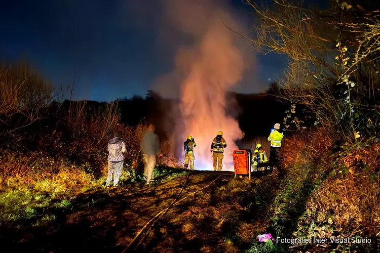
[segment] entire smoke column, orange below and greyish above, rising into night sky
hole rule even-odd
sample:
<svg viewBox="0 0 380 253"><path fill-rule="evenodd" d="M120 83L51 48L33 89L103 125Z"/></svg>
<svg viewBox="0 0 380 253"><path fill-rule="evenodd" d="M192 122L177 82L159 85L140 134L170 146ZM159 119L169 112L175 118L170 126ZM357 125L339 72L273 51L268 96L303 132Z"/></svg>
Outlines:
<svg viewBox="0 0 380 253"><path fill-rule="evenodd" d="M188 135L193 136L197 143L196 170L213 170L210 146L222 131L227 143L222 169L233 171L232 152L238 148L235 141L244 133L238 122L226 115L226 93L235 90L246 70L255 65L252 49L247 53L247 41L223 24L222 20L234 29L243 27L222 3L164 0L156 19L159 39L176 50L172 56L174 69L157 78L153 89L163 96L179 98L179 110L173 108L168 113L175 118L175 131L169 133L171 148L183 159L183 142ZM250 71L249 75L255 73Z"/></svg>

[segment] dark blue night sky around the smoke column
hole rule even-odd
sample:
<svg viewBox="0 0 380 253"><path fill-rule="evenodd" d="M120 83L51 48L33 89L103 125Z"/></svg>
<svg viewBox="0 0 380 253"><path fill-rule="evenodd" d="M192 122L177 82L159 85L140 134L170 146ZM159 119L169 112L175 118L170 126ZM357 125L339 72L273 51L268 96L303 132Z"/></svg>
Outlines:
<svg viewBox="0 0 380 253"><path fill-rule="evenodd" d="M173 0L176 1L176 0ZM0 2L0 58L27 59L48 79L60 85L81 74L77 98L110 101L146 94L154 80L173 68L174 53L157 39L155 2L145 2L146 16L136 18L139 0L56 0ZM229 8L252 20L244 0L230 0ZM149 3L149 4L148 4ZM137 16L138 16L137 15ZM142 22L143 21L143 22ZM252 49L253 50L253 49ZM258 56L257 92L286 64L276 54ZM249 82L249 80L248 80Z"/></svg>

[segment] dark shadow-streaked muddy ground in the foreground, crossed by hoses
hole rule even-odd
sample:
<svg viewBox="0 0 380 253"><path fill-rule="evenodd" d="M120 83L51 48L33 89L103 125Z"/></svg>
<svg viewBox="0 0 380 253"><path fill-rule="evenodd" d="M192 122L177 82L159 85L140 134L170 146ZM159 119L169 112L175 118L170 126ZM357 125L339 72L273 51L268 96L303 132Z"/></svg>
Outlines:
<svg viewBox="0 0 380 253"><path fill-rule="evenodd" d="M44 209L44 213L56 216L44 226L2 226L2 247L12 248L13 252L122 252L151 218L173 202L186 176L156 185L133 183L75 196L70 199L70 208ZM252 216L250 209L257 198L244 189L253 183L233 180L232 172L194 171L178 199L216 178L206 189L172 206L130 249L240 252L246 248L255 233L265 229L260 221L264 216Z"/></svg>

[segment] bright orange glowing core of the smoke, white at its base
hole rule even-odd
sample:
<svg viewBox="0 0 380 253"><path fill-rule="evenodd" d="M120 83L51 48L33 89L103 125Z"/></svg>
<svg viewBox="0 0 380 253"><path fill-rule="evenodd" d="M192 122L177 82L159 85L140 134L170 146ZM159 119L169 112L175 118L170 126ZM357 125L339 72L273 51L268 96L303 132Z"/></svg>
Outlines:
<svg viewBox="0 0 380 253"><path fill-rule="evenodd" d="M219 19L220 21L220 19ZM195 138L195 168L212 170L212 139L223 132L227 143L223 168L232 170L232 151L243 133L238 122L225 115L225 95L242 76L243 59L234 47L231 35L220 22L211 23L195 49L197 60L181 85L180 111L184 120L183 136ZM182 152L182 156L184 153Z"/></svg>

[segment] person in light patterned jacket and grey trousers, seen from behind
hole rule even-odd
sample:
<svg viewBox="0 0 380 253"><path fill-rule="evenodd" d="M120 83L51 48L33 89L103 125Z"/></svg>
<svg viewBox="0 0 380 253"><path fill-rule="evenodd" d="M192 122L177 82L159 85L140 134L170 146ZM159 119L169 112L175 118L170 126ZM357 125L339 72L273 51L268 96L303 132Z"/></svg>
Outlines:
<svg viewBox="0 0 380 253"><path fill-rule="evenodd" d="M121 138L121 134L116 132L113 138L108 141L108 177L105 181L106 186L109 186L113 176L113 186L118 186L119 177L123 171L124 155L126 147L125 142Z"/></svg>

